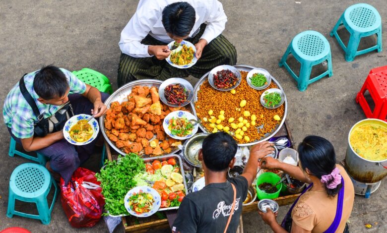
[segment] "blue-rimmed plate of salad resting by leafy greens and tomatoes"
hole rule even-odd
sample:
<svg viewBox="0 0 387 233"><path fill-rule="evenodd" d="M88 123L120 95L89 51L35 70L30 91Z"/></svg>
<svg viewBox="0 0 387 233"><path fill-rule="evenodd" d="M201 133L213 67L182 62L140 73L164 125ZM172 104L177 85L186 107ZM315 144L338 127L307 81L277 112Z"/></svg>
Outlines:
<svg viewBox="0 0 387 233"><path fill-rule="evenodd" d="M133 216L149 217L160 208L161 197L151 187L134 187L125 196L124 205L129 214Z"/></svg>

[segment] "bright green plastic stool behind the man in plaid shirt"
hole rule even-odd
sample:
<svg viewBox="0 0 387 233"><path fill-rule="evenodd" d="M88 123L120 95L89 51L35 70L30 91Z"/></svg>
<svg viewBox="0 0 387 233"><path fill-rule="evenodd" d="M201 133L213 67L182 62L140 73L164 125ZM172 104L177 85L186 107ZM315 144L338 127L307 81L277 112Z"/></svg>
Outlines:
<svg viewBox="0 0 387 233"><path fill-rule="evenodd" d="M72 71L72 73L82 82L97 88L100 92L106 92L109 94L113 93L110 80L98 71L89 68L83 68L79 71Z"/></svg>

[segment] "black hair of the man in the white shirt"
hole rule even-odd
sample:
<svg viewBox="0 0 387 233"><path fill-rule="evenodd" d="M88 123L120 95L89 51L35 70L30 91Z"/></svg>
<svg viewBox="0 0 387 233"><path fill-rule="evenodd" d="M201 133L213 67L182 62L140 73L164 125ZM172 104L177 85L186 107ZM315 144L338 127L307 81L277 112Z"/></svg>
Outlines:
<svg viewBox="0 0 387 233"><path fill-rule="evenodd" d="M162 12L162 22L167 33L185 37L195 24L195 9L190 3L180 1L167 5Z"/></svg>

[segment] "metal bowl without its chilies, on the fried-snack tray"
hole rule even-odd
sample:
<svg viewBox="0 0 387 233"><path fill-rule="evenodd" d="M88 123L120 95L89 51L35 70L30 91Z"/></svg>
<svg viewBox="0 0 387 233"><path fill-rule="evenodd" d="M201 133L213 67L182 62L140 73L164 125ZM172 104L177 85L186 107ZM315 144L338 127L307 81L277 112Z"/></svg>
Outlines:
<svg viewBox="0 0 387 233"><path fill-rule="evenodd" d="M184 89L186 89L186 94L187 94L187 100L183 102L181 105L174 105L168 103L167 99L164 96L164 89L169 86L170 84L181 84L184 86ZM194 87L191 85L191 83L183 78L168 78L165 80L159 87L159 96L160 100L171 107L183 107L188 105L192 99L194 99Z"/></svg>

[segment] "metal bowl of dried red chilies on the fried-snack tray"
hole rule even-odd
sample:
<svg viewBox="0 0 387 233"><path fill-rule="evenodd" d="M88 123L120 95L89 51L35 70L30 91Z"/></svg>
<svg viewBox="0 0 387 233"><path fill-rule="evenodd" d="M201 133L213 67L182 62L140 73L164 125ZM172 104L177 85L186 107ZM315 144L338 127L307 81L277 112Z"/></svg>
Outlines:
<svg viewBox="0 0 387 233"><path fill-rule="evenodd" d="M168 78L159 87L160 100L171 107L183 107L194 98L194 87L183 78Z"/></svg>

